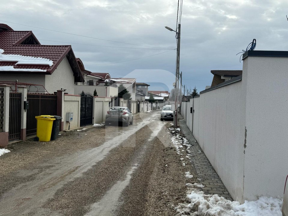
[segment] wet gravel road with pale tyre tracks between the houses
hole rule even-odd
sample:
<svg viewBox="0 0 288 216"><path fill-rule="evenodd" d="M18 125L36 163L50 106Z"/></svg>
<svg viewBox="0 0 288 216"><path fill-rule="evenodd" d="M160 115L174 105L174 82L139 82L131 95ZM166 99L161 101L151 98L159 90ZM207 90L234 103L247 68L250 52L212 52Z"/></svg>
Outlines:
<svg viewBox="0 0 288 216"><path fill-rule="evenodd" d="M0 215L175 215L187 170L159 111L138 113L129 127L61 132L27 140L0 157ZM184 152L183 152L184 154ZM184 156L184 155L183 155ZM182 156L182 157L183 157Z"/></svg>

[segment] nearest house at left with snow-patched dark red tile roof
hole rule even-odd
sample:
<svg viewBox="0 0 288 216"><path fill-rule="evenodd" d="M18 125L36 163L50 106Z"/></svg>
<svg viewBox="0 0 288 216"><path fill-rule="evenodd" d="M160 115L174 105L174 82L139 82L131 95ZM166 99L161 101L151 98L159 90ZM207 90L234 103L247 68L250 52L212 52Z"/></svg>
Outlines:
<svg viewBox="0 0 288 216"><path fill-rule="evenodd" d="M16 80L31 92L74 94L74 83L84 78L70 45L41 45L32 31L0 24L0 83Z"/></svg>

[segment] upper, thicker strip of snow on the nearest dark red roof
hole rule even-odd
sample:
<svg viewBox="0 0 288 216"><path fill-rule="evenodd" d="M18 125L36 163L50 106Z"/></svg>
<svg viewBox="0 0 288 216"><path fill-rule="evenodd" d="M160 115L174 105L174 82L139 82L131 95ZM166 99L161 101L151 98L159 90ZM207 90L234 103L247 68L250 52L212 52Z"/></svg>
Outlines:
<svg viewBox="0 0 288 216"><path fill-rule="evenodd" d="M51 61L48 58L32 57L32 56L25 56L25 55L13 55L13 54L6 55L6 54L3 54L3 52L4 50L0 49L0 61L17 61L15 65L17 64L40 64L40 65L49 65L49 66L53 65L53 61ZM27 70L28 69L25 69L25 71Z"/></svg>

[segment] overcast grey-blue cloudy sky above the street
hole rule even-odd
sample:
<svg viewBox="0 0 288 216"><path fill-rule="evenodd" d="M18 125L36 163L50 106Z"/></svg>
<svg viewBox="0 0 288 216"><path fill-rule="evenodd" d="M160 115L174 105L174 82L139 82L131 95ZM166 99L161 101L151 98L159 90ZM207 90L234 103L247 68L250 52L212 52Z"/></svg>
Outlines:
<svg viewBox="0 0 288 216"><path fill-rule="evenodd" d="M71 44L87 70L108 72L111 77L133 76L137 82L149 82L151 90L172 88L176 52L145 46L176 48L174 32L164 28L176 29L176 0L1 0L1 8L0 19L7 22L0 23L14 30L32 30L41 44L67 44L51 42L62 41L150 48ZM180 49L183 85L196 86L201 91L211 85L211 70L242 70L242 61L239 62L240 56L236 54L246 49L253 38L257 40L256 50L288 50L287 8L287 0L183 0ZM161 52L165 53L155 55ZM142 58L149 55L155 56ZM128 61L135 58L142 59ZM127 62L109 64L119 61Z"/></svg>

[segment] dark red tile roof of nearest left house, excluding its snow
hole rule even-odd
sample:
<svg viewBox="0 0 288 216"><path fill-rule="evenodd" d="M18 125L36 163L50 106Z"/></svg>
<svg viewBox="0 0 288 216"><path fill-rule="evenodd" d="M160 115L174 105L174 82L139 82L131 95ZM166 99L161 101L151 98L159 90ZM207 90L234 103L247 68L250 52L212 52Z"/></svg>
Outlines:
<svg viewBox="0 0 288 216"><path fill-rule="evenodd" d="M2 24L0 24L1 26ZM21 43L25 42L23 45ZM48 58L53 61L53 65L15 65L15 62L1 62L0 66L14 66L14 68L35 68L47 70L46 72L30 71L1 71L1 73L32 73L32 74L52 74L63 58L67 57L73 70L75 81L82 82L83 76L76 62L71 45L40 45L39 41L31 31L0 31L0 49L3 54L24 55L32 57Z"/></svg>

